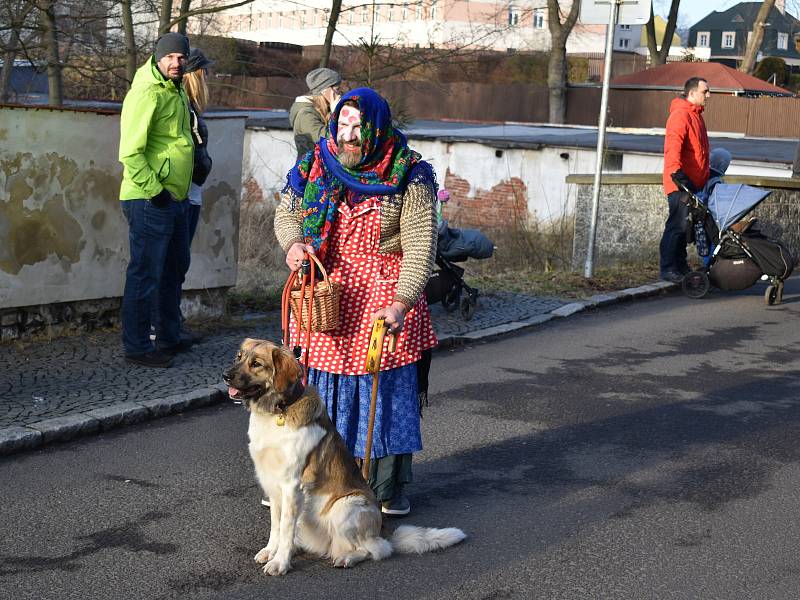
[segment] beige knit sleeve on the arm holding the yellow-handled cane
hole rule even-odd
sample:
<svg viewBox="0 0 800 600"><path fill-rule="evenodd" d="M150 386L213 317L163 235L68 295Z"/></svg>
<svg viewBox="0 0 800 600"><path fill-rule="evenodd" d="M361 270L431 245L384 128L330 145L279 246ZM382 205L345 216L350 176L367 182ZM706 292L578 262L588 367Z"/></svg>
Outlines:
<svg viewBox="0 0 800 600"><path fill-rule="evenodd" d="M436 258L436 213L433 187L412 183L403 195L400 212L400 245L403 266L395 301L414 306L430 277Z"/></svg>

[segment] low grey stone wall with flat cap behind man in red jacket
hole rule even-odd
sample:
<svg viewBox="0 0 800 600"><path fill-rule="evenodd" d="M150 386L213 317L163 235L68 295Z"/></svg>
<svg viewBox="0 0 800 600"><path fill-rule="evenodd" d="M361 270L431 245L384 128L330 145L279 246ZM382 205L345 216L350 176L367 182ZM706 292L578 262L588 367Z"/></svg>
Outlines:
<svg viewBox="0 0 800 600"><path fill-rule="evenodd" d="M567 179L577 188L573 263L586 261L592 209L592 176ZM728 176L726 183L745 183L773 190L751 213L766 234L784 242L797 256L800 250L800 180L775 177ZM617 262L658 262L658 244L667 218L660 175L604 177L595 238L595 265ZM691 253L690 253L691 254Z"/></svg>

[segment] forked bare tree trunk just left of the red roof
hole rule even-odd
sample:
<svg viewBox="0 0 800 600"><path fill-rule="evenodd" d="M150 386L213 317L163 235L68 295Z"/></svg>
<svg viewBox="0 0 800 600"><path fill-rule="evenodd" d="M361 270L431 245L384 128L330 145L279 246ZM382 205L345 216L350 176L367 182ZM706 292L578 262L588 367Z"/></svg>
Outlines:
<svg viewBox="0 0 800 600"><path fill-rule="evenodd" d="M547 0L547 25L550 28L550 58L547 64L547 87L550 90L550 122L563 123L567 118L567 38L580 13L581 1L573 0L564 20L559 0Z"/></svg>

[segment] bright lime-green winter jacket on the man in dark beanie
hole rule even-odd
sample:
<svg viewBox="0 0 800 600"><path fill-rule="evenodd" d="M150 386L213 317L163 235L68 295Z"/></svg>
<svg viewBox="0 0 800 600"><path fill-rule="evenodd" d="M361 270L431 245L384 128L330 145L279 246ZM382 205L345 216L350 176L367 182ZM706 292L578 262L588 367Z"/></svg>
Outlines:
<svg viewBox="0 0 800 600"><path fill-rule="evenodd" d="M119 161L120 200L150 199L162 189L186 199L194 164L189 103L152 56L136 71L122 103Z"/></svg>

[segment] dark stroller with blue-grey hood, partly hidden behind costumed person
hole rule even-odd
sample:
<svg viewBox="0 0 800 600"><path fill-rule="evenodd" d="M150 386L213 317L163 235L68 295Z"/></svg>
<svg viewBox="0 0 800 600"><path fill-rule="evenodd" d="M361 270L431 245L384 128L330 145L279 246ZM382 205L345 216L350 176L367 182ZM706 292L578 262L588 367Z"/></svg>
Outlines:
<svg viewBox="0 0 800 600"><path fill-rule="evenodd" d="M436 269L425 285L428 304L441 302L447 312L461 309L469 321L478 304L478 290L464 281L464 268L455 263L468 258L484 259L494 253L494 243L477 229L454 229L447 220L439 222L436 244ZM466 294L465 294L466 292Z"/></svg>

